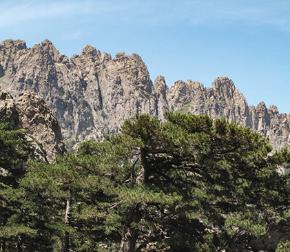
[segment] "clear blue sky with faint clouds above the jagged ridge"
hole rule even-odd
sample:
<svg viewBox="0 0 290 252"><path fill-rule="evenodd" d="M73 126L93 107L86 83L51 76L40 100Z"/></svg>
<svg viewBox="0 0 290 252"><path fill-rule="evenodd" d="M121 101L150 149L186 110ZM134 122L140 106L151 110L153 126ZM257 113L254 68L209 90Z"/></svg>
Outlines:
<svg viewBox="0 0 290 252"><path fill-rule="evenodd" d="M139 54L152 81L231 78L249 105L290 112L290 1L0 0L0 41L50 39L63 54L87 44Z"/></svg>

